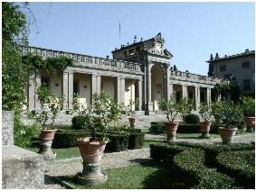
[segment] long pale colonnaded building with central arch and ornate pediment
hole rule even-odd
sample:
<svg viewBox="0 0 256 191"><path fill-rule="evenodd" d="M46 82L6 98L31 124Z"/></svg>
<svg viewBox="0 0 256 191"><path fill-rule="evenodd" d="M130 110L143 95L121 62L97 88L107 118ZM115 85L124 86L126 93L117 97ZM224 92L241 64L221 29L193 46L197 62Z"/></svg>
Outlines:
<svg viewBox="0 0 256 191"><path fill-rule="evenodd" d="M73 59L72 67L62 73L34 71L27 87L29 109L40 108L36 89L42 83L50 86L51 94L64 95L64 109L72 108L73 95L81 102L91 103L91 95L104 90L118 102L128 104L130 99L139 100L139 110L150 114L157 110L157 101L171 95L178 101L182 97L194 99L195 104L211 103L219 97L213 91L223 79L205 77L170 68L173 55L164 48L161 33L147 41L122 45L112 51L113 59L103 59L59 50L24 47L28 52L41 57L66 56Z"/></svg>

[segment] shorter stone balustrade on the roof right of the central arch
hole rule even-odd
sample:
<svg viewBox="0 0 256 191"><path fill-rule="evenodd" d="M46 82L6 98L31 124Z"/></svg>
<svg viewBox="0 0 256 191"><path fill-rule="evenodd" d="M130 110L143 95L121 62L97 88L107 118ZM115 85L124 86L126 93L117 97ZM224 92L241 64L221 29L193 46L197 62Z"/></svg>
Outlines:
<svg viewBox="0 0 256 191"><path fill-rule="evenodd" d="M192 74L189 72L183 72L179 70L170 70L170 79L186 79L191 82L203 82L207 84L217 84L222 82L227 82L223 78L218 77L206 77L202 75Z"/></svg>

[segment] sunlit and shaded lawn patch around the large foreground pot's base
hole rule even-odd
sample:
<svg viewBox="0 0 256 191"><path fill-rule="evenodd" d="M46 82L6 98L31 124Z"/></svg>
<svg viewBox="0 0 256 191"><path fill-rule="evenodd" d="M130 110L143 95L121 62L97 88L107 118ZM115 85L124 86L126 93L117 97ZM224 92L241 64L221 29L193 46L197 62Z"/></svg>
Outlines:
<svg viewBox="0 0 256 191"><path fill-rule="evenodd" d="M105 170L108 180L97 186L82 186L73 176L59 177L78 189L165 189L189 188L189 177L173 165L147 161L125 168Z"/></svg>

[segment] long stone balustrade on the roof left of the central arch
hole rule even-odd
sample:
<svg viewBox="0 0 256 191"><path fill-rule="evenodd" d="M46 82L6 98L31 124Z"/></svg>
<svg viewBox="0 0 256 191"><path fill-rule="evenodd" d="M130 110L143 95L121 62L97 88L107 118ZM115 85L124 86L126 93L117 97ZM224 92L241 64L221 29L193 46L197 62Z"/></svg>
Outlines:
<svg viewBox="0 0 256 191"><path fill-rule="evenodd" d="M122 61L117 59L103 59L99 57L91 57L82 54L76 54L65 51L58 50L47 50L36 47L23 47L23 55L27 53L32 53L45 58L57 58L60 56L65 56L74 60L74 66L84 66L97 68L112 68L114 70L129 71L129 72L141 72L141 68L137 63Z"/></svg>

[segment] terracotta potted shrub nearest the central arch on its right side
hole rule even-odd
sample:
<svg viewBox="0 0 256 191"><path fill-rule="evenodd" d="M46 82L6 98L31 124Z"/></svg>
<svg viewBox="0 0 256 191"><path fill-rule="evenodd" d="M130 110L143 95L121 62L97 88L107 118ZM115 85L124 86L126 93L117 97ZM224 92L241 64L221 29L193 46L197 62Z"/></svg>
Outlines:
<svg viewBox="0 0 256 191"><path fill-rule="evenodd" d="M176 131L178 128L178 124L174 122L175 117L179 114L180 107L175 104L175 100L173 96L170 96L169 100L161 100L158 102L159 109L166 114L167 122L166 125L166 141L176 141Z"/></svg>

